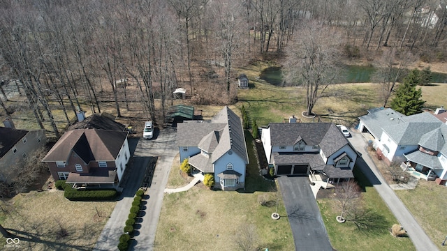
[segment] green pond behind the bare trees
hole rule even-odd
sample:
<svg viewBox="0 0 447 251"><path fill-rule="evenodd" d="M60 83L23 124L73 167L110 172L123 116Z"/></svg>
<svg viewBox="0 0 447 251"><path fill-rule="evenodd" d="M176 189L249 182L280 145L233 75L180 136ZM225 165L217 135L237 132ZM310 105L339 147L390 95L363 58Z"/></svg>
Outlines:
<svg viewBox="0 0 447 251"><path fill-rule="evenodd" d="M342 71L342 77L337 79L339 83L365 83L371 82L372 75L376 72L376 68L373 66L349 66L345 65ZM433 83L447 83L447 74L445 73L433 73ZM259 78L264 79L269 84L275 86L282 86L283 75L281 67L266 68L261 72Z"/></svg>

